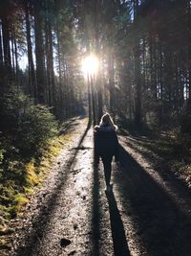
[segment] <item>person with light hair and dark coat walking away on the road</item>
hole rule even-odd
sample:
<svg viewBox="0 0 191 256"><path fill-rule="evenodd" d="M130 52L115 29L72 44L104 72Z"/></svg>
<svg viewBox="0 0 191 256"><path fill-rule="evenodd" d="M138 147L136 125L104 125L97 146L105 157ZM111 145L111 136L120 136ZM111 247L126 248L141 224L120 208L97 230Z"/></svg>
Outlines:
<svg viewBox="0 0 191 256"><path fill-rule="evenodd" d="M112 191L110 180L113 156L118 161L117 126L110 114L106 113L101 117L99 126L95 127L95 165L98 165L100 157L104 167L106 192Z"/></svg>

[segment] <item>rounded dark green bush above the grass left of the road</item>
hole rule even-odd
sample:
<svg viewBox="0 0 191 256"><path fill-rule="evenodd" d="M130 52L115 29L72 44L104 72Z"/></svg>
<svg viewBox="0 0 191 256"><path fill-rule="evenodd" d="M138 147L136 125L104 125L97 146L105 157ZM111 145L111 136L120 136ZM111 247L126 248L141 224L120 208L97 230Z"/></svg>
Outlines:
<svg viewBox="0 0 191 256"><path fill-rule="evenodd" d="M32 99L17 88L12 88L2 98L2 132L11 137L11 147L20 153L32 153L56 135L57 122L45 105L34 105ZM13 153L16 150L10 149Z"/></svg>

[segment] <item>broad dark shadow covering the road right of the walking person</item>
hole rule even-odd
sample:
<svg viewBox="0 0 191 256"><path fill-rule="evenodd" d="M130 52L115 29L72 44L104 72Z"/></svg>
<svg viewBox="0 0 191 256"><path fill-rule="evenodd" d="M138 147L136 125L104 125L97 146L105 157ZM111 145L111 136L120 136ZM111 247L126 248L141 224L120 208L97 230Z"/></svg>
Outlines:
<svg viewBox="0 0 191 256"><path fill-rule="evenodd" d="M120 147L120 164L122 174L115 176L119 195L146 255L190 256L191 211L183 211L179 201L123 147Z"/></svg>

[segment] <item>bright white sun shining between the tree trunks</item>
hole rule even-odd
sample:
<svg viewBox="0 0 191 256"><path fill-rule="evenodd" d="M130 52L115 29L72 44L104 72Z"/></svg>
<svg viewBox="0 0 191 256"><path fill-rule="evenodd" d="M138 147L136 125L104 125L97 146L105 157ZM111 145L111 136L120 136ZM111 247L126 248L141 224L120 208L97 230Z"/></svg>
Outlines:
<svg viewBox="0 0 191 256"><path fill-rule="evenodd" d="M98 59L94 55L90 55L82 60L82 72L84 76L96 75L98 69Z"/></svg>

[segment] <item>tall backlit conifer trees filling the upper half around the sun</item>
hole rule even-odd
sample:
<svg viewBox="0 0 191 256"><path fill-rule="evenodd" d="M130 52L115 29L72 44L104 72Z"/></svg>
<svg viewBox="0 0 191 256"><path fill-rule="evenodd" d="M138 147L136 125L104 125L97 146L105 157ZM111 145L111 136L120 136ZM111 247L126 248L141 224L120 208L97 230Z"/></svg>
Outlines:
<svg viewBox="0 0 191 256"><path fill-rule="evenodd" d="M96 119L107 108L139 126L190 124L190 1L1 1L1 91L17 86L58 118L87 98L94 53ZM20 67L27 59L27 68ZM189 118L190 119L190 118Z"/></svg>

